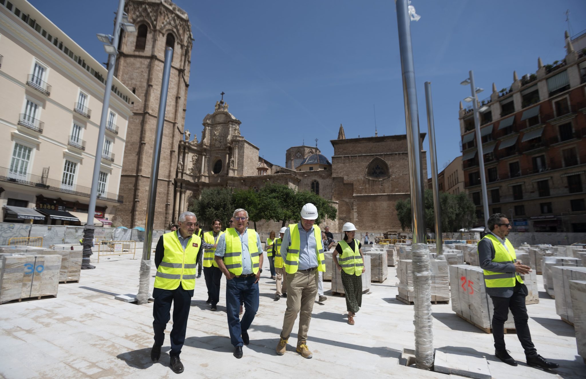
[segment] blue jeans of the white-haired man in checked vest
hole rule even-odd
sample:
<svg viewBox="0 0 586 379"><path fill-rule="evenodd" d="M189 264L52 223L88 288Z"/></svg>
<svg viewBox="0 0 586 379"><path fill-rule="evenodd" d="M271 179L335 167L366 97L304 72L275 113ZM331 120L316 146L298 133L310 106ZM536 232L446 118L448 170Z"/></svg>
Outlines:
<svg viewBox="0 0 586 379"><path fill-rule="evenodd" d="M254 283L254 276L248 278L226 279L226 313L228 315L228 330L230 343L243 346L241 334L247 331L253 323L258 310L258 283ZM244 302L244 314L239 319L240 304Z"/></svg>

